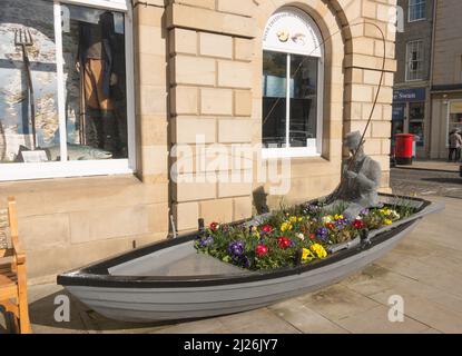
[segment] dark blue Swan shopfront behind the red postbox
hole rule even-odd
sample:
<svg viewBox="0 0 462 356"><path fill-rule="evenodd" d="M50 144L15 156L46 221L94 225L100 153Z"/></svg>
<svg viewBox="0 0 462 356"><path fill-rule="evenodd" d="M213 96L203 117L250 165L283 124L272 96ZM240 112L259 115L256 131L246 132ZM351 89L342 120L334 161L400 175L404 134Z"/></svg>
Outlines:
<svg viewBox="0 0 462 356"><path fill-rule="evenodd" d="M393 91L392 139L396 134L412 134L415 157L425 157L426 89L397 89Z"/></svg>

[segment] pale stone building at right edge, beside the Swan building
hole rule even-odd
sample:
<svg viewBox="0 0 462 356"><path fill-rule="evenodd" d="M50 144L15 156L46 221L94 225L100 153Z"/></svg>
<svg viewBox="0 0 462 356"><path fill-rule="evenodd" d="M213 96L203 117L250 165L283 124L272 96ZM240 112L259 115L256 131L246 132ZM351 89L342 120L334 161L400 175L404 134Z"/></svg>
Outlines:
<svg viewBox="0 0 462 356"><path fill-rule="evenodd" d="M448 158L448 138L462 130L462 1L439 0L434 20L430 158Z"/></svg>

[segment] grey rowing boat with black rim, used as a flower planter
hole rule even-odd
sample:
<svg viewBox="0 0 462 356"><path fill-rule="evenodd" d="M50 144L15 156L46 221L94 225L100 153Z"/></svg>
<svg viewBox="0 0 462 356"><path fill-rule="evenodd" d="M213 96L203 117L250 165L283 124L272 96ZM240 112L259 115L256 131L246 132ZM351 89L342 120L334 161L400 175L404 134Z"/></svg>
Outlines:
<svg viewBox="0 0 462 356"><path fill-rule="evenodd" d="M276 269L245 269L197 250L199 233L163 240L58 276L58 284L101 315L126 322L178 320L259 308L338 281L390 251L442 204L380 195L409 217L326 247L328 255ZM256 217L246 228L267 217ZM201 236L204 238L204 236ZM315 255L315 254L313 254ZM258 257L255 258L255 260Z"/></svg>

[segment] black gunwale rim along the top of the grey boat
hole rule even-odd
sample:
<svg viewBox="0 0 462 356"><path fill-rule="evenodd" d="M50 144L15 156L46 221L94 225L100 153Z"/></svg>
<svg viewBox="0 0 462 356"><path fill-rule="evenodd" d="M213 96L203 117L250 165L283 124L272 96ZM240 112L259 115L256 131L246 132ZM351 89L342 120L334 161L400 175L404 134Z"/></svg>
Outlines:
<svg viewBox="0 0 462 356"><path fill-rule="evenodd" d="M431 205L430 201L414 198L402 197L395 195L381 194L381 196L389 196L393 198L405 198L406 200L419 201L422 205L415 211L419 212L425 207ZM412 216L410 217L412 218ZM412 225L416 224L421 217L416 217L410 221L400 224L392 227L389 230L379 233L371 238L368 244L361 244L360 246L351 249L344 249L332 254L325 259L317 259L307 265L301 265L296 267L283 267L278 269L257 270L243 273L239 275L199 275L199 276L118 276L110 275L109 268L124 264L126 261L140 258L142 256L156 253L164 248L174 247L180 244L185 244L194 240L197 237L197 233L191 233L186 236L177 237L175 239L165 239L156 241L147 246L130 250L128 253L120 254L115 257L109 257L98 263L94 263L87 267L73 269L68 273L61 274L57 277L57 283L63 286L81 286L81 287L107 287L107 288L184 288L184 287L210 287L234 285L243 283L253 283L258 280L275 279L287 277L292 275L299 275L313 269L317 269L324 266L328 266L346 259L356 254L377 246L396 234L404 231ZM238 221L234 224L242 224L248 220Z"/></svg>

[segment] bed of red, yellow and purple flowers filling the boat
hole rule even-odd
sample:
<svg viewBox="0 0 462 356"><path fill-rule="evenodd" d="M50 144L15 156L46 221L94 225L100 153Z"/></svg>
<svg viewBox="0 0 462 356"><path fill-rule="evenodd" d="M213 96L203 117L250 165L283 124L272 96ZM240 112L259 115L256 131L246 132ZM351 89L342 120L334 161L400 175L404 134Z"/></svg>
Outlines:
<svg viewBox="0 0 462 356"><path fill-rule="evenodd" d="M343 211L343 210L341 210ZM328 247L346 243L409 217L405 206L364 209L354 220L316 205L281 208L255 226L212 222L198 236L198 251L242 268L294 267L328 256Z"/></svg>

